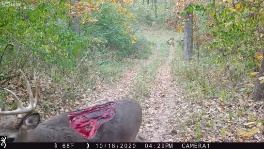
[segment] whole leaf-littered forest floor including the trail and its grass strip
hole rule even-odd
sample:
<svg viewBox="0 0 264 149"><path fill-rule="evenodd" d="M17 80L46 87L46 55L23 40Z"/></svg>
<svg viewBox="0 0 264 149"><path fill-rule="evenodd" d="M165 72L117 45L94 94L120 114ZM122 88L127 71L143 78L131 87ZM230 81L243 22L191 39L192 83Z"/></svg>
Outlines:
<svg viewBox="0 0 264 149"><path fill-rule="evenodd" d="M220 99L186 99L183 88L171 76L171 63L177 56L178 47L167 44L171 37L176 40L180 37L169 31L147 31L146 35L155 43L153 54L147 60L136 63L116 83L101 83L92 93L84 93L75 101L69 101L63 106L62 99L56 99L56 94L60 94L60 91L50 93L52 94L49 95L50 104L47 106L40 103L41 106L37 108L37 111L43 114L42 119L45 121L61 112L102 104L122 97L133 97L142 107L143 121L140 134L151 142L264 140L263 123L258 121L264 118L262 103L241 99L222 106ZM58 84L46 82L41 87L43 92L47 92L44 86L60 87ZM21 91L17 93L22 94L26 97L26 93ZM241 106L247 106L247 114L231 117L230 111L236 113ZM48 111L48 114L44 114L43 111ZM250 114L253 114L253 118Z"/></svg>

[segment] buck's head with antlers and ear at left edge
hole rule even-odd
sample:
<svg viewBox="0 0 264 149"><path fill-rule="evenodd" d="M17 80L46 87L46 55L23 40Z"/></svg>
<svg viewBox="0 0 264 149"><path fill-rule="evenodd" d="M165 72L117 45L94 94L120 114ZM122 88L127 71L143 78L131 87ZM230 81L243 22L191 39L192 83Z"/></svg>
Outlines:
<svg viewBox="0 0 264 149"><path fill-rule="evenodd" d="M6 142L13 142L14 140L16 140L18 134L26 133L30 130L35 129L40 121L39 113L31 114L32 111L36 108L38 100L38 86L35 76L35 70L33 72L36 88L35 99L33 98L29 81L20 69L19 71L22 74L23 80L26 82L30 103L28 107L24 107L15 93L6 88L1 88L10 92L15 97L17 102L16 110L6 111L3 107L0 111L0 115L4 116L4 120L0 123L0 135L7 136Z"/></svg>

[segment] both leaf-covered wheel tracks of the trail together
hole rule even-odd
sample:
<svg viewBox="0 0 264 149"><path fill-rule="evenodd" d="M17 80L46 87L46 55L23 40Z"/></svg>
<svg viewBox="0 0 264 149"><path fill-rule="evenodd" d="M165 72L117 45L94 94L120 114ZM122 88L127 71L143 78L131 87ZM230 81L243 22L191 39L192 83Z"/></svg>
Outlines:
<svg viewBox="0 0 264 149"><path fill-rule="evenodd" d="M153 54L143 63L148 65L158 56L160 43L157 43ZM173 123L171 116L175 116L177 106L175 94L177 88L172 84L170 74L170 64L173 58L173 47L169 49L169 58L165 63L158 67L155 86L151 92L150 98L141 103L143 122L140 134L151 142L172 142L175 139L172 133ZM120 99L128 95L133 86L133 80L138 72L138 67L126 72L114 85L102 85L85 99L89 105L101 104L115 99ZM88 99L88 100L87 100ZM171 132L172 131L172 132Z"/></svg>

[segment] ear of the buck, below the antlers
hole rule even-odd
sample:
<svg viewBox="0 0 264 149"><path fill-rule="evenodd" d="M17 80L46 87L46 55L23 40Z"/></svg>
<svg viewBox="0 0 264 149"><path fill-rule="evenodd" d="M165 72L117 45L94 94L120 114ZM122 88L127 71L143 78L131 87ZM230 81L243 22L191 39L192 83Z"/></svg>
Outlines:
<svg viewBox="0 0 264 149"><path fill-rule="evenodd" d="M21 129L23 130L33 130L35 129L40 121L39 113L33 113L26 117L21 125Z"/></svg>

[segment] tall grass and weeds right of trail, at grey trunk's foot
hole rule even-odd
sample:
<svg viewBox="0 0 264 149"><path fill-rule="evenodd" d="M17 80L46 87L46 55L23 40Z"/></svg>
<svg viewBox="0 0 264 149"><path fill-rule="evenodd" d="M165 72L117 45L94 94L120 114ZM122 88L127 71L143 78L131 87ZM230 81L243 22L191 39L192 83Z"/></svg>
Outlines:
<svg viewBox="0 0 264 149"><path fill-rule="evenodd" d="M206 52L200 51L202 56L199 61L195 57L194 60L185 62L182 47L177 44L175 48L171 76L184 88L187 98L221 98L225 103L234 99L237 93L243 91L247 94L251 91L251 87L245 87L246 84L252 83L252 78L248 76L250 65L245 65L245 61L238 59L223 60L217 53Z"/></svg>

